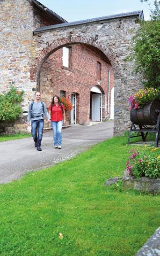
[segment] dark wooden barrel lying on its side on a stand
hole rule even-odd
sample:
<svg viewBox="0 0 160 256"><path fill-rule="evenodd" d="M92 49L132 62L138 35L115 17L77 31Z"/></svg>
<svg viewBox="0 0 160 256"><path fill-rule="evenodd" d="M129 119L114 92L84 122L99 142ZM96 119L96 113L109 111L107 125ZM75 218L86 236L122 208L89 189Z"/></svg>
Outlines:
<svg viewBox="0 0 160 256"><path fill-rule="evenodd" d="M131 109L131 122L137 125L157 124L157 110L160 110L160 101L151 101L141 109Z"/></svg>

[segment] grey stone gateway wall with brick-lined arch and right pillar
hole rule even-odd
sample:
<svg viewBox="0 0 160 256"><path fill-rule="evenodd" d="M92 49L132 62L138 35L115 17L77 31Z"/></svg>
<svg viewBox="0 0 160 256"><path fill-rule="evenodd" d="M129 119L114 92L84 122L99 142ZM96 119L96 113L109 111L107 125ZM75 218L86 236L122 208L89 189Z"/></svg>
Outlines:
<svg viewBox="0 0 160 256"><path fill-rule="evenodd" d="M96 47L106 55L113 68L114 134L123 134L130 125L128 97L141 87L140 76L133 75L134 61L125 61L131 54L131 38L137 28L136 18L127 17L106 21L103 24L97 22L62 27L36 34L34 40L38 57L31 71L31 80L37 81L43 62L60 47L80 43Z"/></svg>

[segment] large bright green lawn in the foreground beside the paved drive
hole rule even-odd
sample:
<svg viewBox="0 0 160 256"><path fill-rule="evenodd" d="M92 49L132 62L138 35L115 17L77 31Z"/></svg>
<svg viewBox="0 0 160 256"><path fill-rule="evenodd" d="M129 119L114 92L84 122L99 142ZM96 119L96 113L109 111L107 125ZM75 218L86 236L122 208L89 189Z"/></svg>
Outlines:
<svg viewBox="0 0 160 256"><path fill-rule="evenodd" d="M104 186L123 175L126 141L1 185L0 256L135 255L160 225L160 196Z"/></svg>

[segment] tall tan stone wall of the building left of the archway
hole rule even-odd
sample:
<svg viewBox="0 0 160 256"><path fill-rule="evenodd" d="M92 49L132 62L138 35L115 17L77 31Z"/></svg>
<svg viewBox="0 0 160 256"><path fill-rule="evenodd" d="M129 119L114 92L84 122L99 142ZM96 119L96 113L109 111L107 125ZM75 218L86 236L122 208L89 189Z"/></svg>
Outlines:
<svg viewBox="0 0 160 256"><path fill-rule="evenodd" d="M36 57L32 5L27 0L4 0L0 2L0 20L0 92L7 91L10 84L23 89L22 107L27 111L35 85L30 82L30 57Z"/></svg>

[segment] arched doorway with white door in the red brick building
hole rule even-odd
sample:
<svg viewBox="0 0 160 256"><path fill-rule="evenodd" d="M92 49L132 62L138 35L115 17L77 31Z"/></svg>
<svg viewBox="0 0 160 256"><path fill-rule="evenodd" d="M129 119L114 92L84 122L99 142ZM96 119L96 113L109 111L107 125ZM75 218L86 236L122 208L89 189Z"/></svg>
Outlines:
<svg viewBox="0 0 160 256"><path fill-rule="evenodd" d="M93 86L90 92L90 120L102 121L102 92L98 86Z"/></svg>

